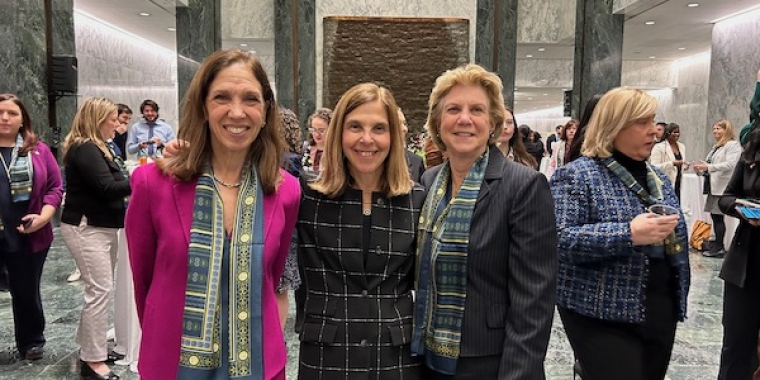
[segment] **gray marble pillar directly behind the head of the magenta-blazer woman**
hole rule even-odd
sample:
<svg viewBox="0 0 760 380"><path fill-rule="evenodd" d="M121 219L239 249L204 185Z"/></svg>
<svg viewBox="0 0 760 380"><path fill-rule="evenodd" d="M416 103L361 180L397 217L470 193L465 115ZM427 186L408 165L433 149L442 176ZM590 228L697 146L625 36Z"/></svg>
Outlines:
<svg viewBox="0 0 760 380"><path fill-rule="evenodd" d="M186 7L177 6L177 99L180 104L201 62L222 47L220 3L190 0Z"/></svg>

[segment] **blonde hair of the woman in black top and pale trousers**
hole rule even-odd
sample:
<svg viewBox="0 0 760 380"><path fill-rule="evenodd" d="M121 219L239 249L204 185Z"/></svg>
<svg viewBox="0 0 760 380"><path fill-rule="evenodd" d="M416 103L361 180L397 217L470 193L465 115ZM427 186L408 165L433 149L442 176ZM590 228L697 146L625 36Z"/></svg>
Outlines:
<svg viewBox="0 0 760 380"><path fill-rule="evenodd" d="M116 104L106 98L88 98L74 115L71 122L71 131L63 140L63 160L68 157L71 147L90 141L106 156L109 161L113 160L111 151L106 147L106 141L100 131L100 126L108 121L112 113L116 113Z"/></svg>

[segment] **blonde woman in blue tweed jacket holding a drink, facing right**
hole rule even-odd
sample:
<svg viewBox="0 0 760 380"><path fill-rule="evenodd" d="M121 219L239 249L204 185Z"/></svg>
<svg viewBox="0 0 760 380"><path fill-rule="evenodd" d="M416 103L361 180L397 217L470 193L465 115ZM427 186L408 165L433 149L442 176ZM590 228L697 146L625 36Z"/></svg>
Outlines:
<svg viewBox="0 0 760 380"><path fill-rule="evenodd" d="M584 380L663 379L686 317L686 225L667 177L646 162L657 101L610 90L586 131L583 156L552 177L559 237L557 303Z"/></svg>

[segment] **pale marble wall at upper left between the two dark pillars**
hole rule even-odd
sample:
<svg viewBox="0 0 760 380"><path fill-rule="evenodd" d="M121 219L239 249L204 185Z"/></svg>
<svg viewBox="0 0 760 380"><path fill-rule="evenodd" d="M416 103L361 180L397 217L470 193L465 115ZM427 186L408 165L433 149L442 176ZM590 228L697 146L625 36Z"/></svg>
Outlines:
<svg viewBox="0 0 760 380"><path fill-rule="evenodd" d="M75 12L79 95L106 97L140 115L140 103L153 99L172 127L179 123L176 54L150 41Z"/></svg>

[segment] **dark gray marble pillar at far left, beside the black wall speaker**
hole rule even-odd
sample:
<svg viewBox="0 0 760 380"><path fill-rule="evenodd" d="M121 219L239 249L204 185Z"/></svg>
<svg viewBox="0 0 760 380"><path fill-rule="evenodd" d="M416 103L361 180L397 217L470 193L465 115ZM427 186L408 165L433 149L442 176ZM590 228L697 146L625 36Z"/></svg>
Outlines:
<svg viewBox="0 0 760 380"><path fill-rule="evenodd" d="M0 90L16 94L30 113L35 132L54 147L53 127L63 138L76 112L76 97L56 103L56 118L49 117L47 47L45 42L44 0L0 0L6 10L0 24ZM74 55L73 0L52 1L52 53Z"/></svg>

